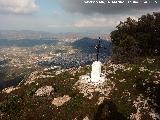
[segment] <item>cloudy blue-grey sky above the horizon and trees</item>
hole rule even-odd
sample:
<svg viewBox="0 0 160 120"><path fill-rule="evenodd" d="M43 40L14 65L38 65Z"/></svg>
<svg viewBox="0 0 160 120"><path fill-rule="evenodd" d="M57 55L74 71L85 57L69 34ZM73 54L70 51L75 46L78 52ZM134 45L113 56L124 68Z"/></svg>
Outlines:
<svg viewBox="0 0 160 120"><path fill-rule="evenodd" d="M159 0L0 0L0 30L110 33L127 17L158 11Z"/></svg>

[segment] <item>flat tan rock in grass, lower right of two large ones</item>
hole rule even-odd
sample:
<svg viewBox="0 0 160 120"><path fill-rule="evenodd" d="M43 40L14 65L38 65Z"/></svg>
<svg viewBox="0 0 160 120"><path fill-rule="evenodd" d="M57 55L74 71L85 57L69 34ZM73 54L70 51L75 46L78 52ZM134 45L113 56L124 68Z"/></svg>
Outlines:
<svg viewBox="0 0 160 120"><path fill-rule="evenodd" d="M63 97L54 98L52 104L59 107L62 106L64 103L68 102L71 99L68 95L64 95Z"/></svg>

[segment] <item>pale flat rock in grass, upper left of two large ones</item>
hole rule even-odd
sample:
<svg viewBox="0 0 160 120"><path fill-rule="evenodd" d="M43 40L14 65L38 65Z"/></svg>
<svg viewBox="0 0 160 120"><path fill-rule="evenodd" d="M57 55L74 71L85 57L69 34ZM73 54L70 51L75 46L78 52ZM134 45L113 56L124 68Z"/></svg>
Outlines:
<svg viewBox="0 0 160 120"><path fill-rule="evenodd" d="M53 90L54 88L52 88L52 86L43 86L36 91L35 95L36 96L45 96L45 95L49 96Z"/></svg>

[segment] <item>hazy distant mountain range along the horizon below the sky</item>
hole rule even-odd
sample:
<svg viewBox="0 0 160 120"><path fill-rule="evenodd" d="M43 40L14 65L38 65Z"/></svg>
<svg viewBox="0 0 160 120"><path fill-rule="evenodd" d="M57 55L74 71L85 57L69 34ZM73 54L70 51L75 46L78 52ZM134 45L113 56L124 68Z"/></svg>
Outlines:
<svg viewBox="0 0 160 120"><path fill-rule="evenodd" d="M83 37L97 38L93 33L51 33L31 30L0 30L0 39L22 40L22 39L58 39L64 41L78 40ZM103 39L110 39L108 34L100 34Z"/></svg>

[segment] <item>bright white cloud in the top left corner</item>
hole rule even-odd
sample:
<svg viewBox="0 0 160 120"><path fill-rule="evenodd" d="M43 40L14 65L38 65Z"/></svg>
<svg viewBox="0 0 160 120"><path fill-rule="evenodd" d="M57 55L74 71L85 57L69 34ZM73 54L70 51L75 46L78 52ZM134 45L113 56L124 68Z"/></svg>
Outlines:
<svg viewBox="0 0 160 120"><path fill-rule="evenodd" d="M36 0L0 0L1 13L30 14L37 9Z"/></svg>

